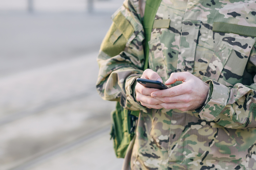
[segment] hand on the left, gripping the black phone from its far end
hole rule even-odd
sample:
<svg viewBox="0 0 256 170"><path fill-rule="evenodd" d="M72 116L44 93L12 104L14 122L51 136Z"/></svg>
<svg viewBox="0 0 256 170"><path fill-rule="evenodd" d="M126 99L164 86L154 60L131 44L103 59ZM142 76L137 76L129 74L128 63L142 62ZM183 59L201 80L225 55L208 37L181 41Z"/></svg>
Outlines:
<svg viewBox="0 0 256 170"><path fill-rule="evenodd" d="M151 69L145 70L141 78L158 80L159 82L163 82L163 80L160 78L157 72L154 72ZM151 97L151 93L157 90L159 89L147 88L142 86L140 83L137 83L135 86L136 100L139 101L142 104L142 106L146 106L147 108L161 109L163 107L160 106L159 103L163 103L163 102L161 100Z"/></svg>

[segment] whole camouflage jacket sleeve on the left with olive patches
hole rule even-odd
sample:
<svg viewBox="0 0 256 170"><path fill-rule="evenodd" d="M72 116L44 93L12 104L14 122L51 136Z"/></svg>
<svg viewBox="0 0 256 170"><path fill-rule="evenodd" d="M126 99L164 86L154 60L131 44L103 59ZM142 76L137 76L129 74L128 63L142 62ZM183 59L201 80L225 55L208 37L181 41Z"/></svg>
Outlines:
<svg viewBox="0 0 256 170"><path fill-rule="evenodd" d="M144 110L135 99L135 80L143 73L144 31L139 1L125 0L113 15L97 62L97 91L104 100L120 101L129 110Z"/></svg>

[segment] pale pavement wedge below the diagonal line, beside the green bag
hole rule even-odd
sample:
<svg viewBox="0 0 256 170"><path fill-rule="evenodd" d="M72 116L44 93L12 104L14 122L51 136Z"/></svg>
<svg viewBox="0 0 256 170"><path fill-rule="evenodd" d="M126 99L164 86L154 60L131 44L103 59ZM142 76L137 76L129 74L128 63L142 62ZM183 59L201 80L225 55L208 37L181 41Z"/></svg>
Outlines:
<svg viewBox="0 0 256 170"><path fill-rule="evenodd" d="M103 133L89 143L32 167L31 170L121 170L123 159L115 158L113 141Z"/></svg>

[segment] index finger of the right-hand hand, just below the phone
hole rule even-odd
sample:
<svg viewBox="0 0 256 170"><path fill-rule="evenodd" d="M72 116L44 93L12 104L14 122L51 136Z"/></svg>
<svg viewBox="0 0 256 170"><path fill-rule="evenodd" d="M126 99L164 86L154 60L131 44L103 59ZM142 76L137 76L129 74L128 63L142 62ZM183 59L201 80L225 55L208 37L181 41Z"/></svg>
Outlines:
<svg viewBox="0 0 256 170"><path fill-rule="evenodd" d="M178 86L174 86L172 88L168 88L165 90L158 90L158 91L154 91L151 93L151 97L173 97L173 96L178 96L178 95L182 95L186 92L186 90L183 88L184 84L180 84Z"/></svg>

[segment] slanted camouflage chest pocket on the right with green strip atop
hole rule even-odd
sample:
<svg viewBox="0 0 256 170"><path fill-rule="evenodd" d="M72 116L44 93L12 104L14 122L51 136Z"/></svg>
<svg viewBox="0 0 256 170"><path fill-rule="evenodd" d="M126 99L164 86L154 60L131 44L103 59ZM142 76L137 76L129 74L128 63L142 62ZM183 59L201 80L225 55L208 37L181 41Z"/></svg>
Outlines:
<svg viewBox="0 0 256 170"><path fill-rule="evenodd" d="M248 58L255 43L255 27L214 23L213 36L218 42L204 72L203 81L212 79L233 87L242 82ZM217 41L219 40L219 41Z"/></svg>

